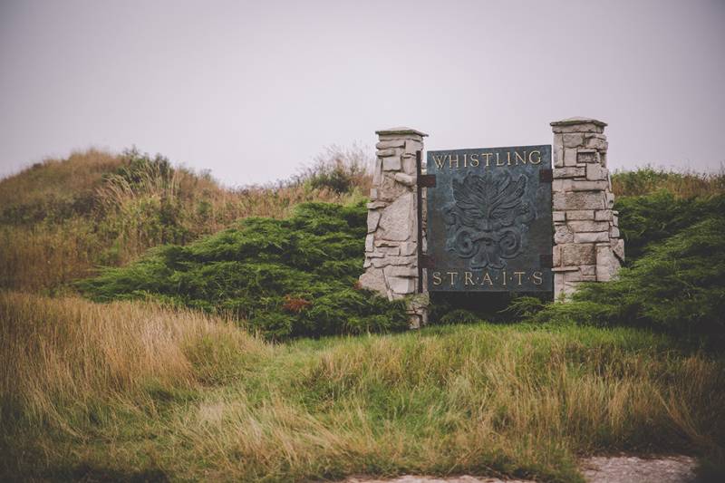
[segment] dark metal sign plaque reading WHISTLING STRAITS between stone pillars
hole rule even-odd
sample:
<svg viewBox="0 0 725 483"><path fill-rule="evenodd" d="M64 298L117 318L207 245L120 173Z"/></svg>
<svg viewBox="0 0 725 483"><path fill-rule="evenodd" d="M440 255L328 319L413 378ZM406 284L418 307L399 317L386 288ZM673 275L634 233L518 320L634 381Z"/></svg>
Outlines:
<svg viewBox="0 0 725 483"><path fill-rule="evenodd" d="M552 290L550 145L428 151L427 168L429 291Z"/></svg>

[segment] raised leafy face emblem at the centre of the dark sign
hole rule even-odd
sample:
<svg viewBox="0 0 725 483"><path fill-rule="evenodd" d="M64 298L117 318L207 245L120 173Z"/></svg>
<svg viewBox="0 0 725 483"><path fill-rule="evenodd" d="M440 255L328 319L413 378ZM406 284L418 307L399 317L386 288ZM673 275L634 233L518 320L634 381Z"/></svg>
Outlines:
<svg viewBox="0 0 725 483"><path fill-rule="evenodd" d="M453 202L443 208L446 249L470 258L470 268L503 268L523 250L536 210L524 196L527 177L507 170L469 172L453 179Z"/></svg>

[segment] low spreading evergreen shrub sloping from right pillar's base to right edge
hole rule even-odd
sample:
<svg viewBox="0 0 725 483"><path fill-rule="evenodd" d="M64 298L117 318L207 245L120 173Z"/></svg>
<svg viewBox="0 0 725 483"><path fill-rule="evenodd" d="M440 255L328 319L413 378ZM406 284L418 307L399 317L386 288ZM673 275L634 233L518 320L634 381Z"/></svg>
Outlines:
<svg viewBox="0 0 725 483"><path fill-rule="evenodd" d="M629 325L710 347L725 343L725 214L713 213L659 244L606 284L583 285L535 322Z"/></svg>

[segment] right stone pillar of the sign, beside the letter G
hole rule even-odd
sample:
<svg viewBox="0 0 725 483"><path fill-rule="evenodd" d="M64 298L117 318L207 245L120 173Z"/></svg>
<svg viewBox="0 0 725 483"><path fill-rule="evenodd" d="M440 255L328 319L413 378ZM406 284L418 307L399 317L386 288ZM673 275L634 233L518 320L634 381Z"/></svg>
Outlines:
<svg viewBox="0 0 725 483"><path fill-rule="evenodd" d="M624 259L609 170L606 123L571 118L554 131L554 296L570 295L581 282L605 282Z"/></svg>

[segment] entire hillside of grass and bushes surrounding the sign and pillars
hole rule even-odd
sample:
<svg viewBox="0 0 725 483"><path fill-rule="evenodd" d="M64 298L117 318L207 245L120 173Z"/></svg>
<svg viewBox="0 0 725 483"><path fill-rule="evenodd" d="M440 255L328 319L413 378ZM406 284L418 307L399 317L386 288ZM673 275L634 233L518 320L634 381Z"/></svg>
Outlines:
<svg viewBox="0 0 725 483"><path fill-rule="evenodd" d="M628 267L570 304L371 335L404 318L353 285L370 179L345 156L275 187L134 150L0 180L0 479L722 464L725 176L614 174Z"/></svg>

